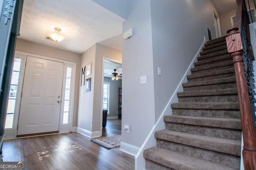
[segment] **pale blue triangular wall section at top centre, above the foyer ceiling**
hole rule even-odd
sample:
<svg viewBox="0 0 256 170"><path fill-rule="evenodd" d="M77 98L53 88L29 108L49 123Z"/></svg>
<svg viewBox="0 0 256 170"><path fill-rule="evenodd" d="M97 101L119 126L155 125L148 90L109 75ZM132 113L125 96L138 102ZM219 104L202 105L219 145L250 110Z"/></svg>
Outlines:
<svg viewBox="0 0 256 170"><path fill-rule="evenodd" d="M107 10L126 19L126 0L92 0Z"/></svg>

